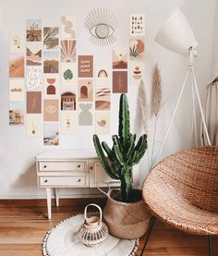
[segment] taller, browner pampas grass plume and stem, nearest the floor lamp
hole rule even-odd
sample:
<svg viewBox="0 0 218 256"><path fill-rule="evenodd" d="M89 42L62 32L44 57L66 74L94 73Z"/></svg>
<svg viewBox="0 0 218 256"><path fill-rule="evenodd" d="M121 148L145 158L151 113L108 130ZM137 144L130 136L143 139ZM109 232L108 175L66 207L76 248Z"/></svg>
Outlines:
<svg viewBox="0 0 218 256"><path fill-rule="evenodd" d="M151 167L155 163L155 158L153 159L154 152L154 142L156 137L157 121L160 114L162 106L162 77L158 64L155 65L152 75L152 110L154 114L154 131L153 140L151 148Z"/></svg>

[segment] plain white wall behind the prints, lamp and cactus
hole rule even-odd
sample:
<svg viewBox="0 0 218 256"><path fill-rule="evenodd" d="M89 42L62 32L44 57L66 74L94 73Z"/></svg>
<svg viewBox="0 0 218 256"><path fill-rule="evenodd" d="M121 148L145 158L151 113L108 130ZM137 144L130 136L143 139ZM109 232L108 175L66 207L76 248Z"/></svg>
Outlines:
<svg viewBox="0 0 218 256"><path fill-rule="evenodd" d="M205 91L212 62L212 30L215 0L0 0L0 198L35 198L43 197L44 191L36 187L34 157L47 150L41 140L26 138L24 127L8 126L8 30L25 30L27 18L42 18L44 25L58 25L62 15L76 16L78 23L79 54L94 55L96 62L111 61L111 48L98 48L88 43L89 35L83 21L93 7L111 8L119 18L117 43L128 43L128 18L131 13L145 13L146 16L146 87L151 96L151 72L154 64L159 63L163 78L163 100L165 101L162 116L158 125L158 141L172 115L181 82L184 79L187 60L180 55L171 53L153 41L163 21L169 17L177 6L188 17L199 41L199 57L196 69L200 92ZM129 85L128 99L133 131L140 132L138 88ZM112 133L117 132L118 95L113 95ZM171 129L164 147L163 155L188 148L191 128L190 90L185 92L182 105L178 109L174 126ZM151 130L152 130L151 120ZM82 136L61 136L59 148L92 148L93 128L81 129ZM151 132L152 136L152 132ZM109 136L102 136L110 140ZM150 137L151 139L151 137ZM162 156L163 157L163 156ZM140 165L140 180L143 181L148 172L147 159L144 157ZM63 195L87 194L88 189L68 189ZM96 190L91 190L96 193Z"/></svg>

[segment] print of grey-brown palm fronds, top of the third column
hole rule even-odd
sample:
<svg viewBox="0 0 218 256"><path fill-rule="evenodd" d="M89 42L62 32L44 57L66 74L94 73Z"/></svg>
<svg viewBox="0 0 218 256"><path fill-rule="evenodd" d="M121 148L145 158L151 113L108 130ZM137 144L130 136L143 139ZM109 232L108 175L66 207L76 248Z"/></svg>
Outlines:
<svg viewBox="0 0 218 256"><path fill-rule="evenodd" d="M43 28L43 45L44 50L56 50L59 47L59 28L44 27Z"/></svg>

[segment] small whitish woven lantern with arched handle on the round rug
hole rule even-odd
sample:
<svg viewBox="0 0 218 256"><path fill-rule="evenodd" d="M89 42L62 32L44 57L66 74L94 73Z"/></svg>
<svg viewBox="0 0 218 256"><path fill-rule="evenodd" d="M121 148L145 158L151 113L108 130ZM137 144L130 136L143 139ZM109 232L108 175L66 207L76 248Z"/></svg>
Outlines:
<svg viewBox="0 0 218 256"><path fill-rule="evenodd" d="M87 209L91 205L98 208L100 212L100 217L87 217ZM103 240L105 240L108 237L108 228L103 223L103 212L101 207L94 203L88 204L84 211L84 219L84 224L79 229L80 241L88 247L100 245L103 242Z"/></svg>

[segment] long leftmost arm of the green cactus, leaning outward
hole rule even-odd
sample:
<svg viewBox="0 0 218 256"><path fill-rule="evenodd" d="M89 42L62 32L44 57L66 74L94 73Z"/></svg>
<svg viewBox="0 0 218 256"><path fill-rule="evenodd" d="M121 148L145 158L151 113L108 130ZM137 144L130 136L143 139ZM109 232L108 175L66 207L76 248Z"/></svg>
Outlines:
<svg viewBox="0 0 218 256"><path fill-rule="evenodd" d="M100 163L103 165L103 169L105 170L105 172L109 177L117 179L117 176L115 175L114 171L111 169L110 165L107 163L99 138L96 134L93 135L93 142L94 142L95 151L99 157Z"/></svg>

